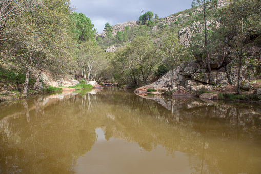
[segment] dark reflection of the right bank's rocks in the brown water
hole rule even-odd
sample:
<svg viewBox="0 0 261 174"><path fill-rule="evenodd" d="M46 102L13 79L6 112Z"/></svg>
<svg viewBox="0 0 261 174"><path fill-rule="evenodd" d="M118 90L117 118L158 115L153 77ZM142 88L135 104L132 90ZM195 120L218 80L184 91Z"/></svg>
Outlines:
<svg viewBox="0 0 261 174"><path fill-rule="evenodd" d="M216 120L234 126L243 126L244 131L257 130L261 133L261 106L245 103L224 103L197 98L166 98L161 95L136 95L156 101L171 111L166 122L208 122Z"/></svg>

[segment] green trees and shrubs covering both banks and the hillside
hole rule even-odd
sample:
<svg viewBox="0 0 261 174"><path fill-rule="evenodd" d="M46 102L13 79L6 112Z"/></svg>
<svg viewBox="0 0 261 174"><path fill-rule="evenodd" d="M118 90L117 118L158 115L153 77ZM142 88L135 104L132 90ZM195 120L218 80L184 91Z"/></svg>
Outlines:
<svg viewBox="0 0 261 174"><path fill-rule="evenodd" d="M73 12L70 0L30 0L17 2L17 6L13 0L4 0L2 4L8 8L0 7L0 24L5 24L0 25L0 68L11 76L1 80L0 89L11 89L14 84L16 90L26 94L30 88L41 88L43 71L59 76L77 72L78 80L86 82L116 80L140 86L168 70L173 72L184 61L193 59L193 55L201 57L211 71L209 56L222 48L237 52L240 86L246 46L254 43L260 46L261 3L228 1L229 5L217 8L216 0L195 0L193 8L165 18L157 14L154 17L148 11L139 17L139 27L127 26L124 31L114 33L106 23L106 36L95 38L96 29L90 18ZM210 20L219 27L211 22L207 27ZM181 45L178 31L192 27L195 22L203 28L193 34L189 46ZM124 47L117 48L115 53L105 53L112 45ZM13 82L10 87L5 84L8 78Z"/></svg>

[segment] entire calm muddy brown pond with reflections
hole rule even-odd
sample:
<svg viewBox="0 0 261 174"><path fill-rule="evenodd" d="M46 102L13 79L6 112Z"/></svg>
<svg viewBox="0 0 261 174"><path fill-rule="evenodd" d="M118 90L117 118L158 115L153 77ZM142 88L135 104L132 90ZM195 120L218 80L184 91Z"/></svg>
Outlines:
<svg viewBox="0 0 261 174"><path fill-rule="evenodd" d="M0 103L0 173L260 173L261 106L116 87Z"/></svg>

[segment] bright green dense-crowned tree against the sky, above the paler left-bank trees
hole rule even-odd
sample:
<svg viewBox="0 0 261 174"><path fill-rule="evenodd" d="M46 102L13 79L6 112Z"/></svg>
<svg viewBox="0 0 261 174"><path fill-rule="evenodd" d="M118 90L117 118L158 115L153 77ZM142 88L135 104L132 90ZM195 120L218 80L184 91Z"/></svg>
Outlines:
<svg viewBox="0 0 261 174"><path fill-rule="evenodd" d="M94 40L97 31L94 29L90 18L86 17L83 13L73 12L71 19L72 23L75 24L72 27L72 32L75 33L77 40L81 42Z"/></svg>

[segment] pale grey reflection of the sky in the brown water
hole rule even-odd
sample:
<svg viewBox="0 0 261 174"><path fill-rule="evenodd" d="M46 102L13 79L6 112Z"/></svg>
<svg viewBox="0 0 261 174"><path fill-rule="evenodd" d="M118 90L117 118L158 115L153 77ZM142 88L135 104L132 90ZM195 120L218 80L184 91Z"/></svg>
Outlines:
<svg viewBox="0 0 261 174"><path fill-rule="evenodd" d="M97 142L92 150L81 156L74 167L75 173L192 173L190 159L200 164L196 157L183 152L169 154L162 145L150 152L137 142L116 138L106 141L101 128L96 129Z"/></svg>

